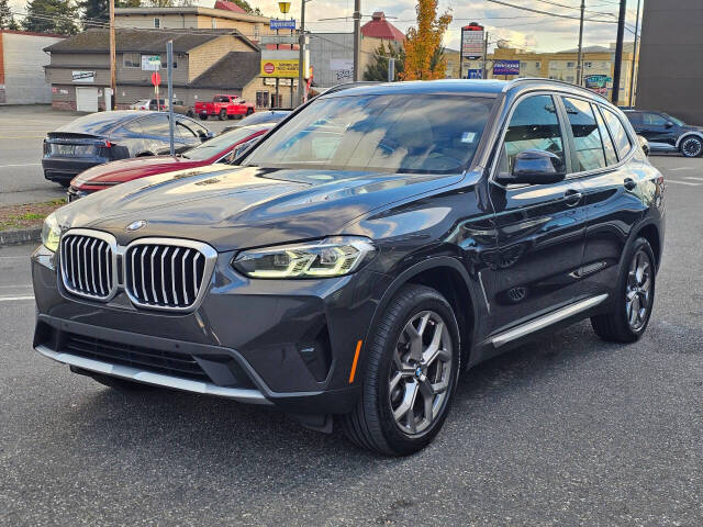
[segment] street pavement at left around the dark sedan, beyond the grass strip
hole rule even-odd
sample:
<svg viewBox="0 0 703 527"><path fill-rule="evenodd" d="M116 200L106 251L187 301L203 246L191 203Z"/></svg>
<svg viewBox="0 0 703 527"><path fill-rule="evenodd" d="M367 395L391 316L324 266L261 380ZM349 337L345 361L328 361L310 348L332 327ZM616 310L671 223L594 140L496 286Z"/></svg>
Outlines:
<svg viewBox="0 0 703 527"><path fill-rule="evenodd" d="M66 195L57 183L44 179L42 141L48 132L83 115L52 110L48 105L2 106L0 110L0 206L49 201ZM220 133L231 121L208 120Z"/></svg>

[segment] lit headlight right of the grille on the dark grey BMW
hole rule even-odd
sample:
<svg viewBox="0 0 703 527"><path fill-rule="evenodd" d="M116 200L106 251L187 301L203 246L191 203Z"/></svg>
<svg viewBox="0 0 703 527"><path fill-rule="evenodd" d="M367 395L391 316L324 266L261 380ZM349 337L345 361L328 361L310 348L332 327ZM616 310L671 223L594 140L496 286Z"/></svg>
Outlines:
<svg viewBox="0 0 703 527"><path fill-rule="evenodd" d="M376 253L373 243L359 236L336 236L321 242L243 250L233 267L249 278L331 278L358 269Z"/></svg>

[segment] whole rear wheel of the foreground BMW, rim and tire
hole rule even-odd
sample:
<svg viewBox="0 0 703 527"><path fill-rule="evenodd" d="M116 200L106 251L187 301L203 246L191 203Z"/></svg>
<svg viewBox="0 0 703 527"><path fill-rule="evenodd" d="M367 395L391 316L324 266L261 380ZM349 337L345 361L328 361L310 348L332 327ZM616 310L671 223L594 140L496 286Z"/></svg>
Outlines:
<svg viewBox="0 0 703 527"><path fill-rule="evenodd" d="M645 333L655 301L656 268L649 242L637 238L624 261L618 281L622 295L611 313L593 316L591 325L603 340L634 343Z"/></svg>

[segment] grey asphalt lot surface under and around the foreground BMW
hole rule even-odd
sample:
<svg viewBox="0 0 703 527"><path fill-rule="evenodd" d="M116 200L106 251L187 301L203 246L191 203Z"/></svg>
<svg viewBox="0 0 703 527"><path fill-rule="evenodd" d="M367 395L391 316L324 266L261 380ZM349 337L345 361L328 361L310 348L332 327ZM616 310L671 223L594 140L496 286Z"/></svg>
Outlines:
<svg viewBox="0 0 703 527"><path fill-rule="evenodd" d="M703 159L651 160L668 218L645 337L581 323L481 365L405 459L69 373L31 347L33 246L1 248L0 525L703 525Z"/></svg>

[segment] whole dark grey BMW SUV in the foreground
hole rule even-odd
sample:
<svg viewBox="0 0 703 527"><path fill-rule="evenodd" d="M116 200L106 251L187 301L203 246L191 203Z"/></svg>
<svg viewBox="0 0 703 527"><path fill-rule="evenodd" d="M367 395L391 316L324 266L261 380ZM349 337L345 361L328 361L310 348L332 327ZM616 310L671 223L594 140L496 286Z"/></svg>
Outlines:
<svg viewBox="0 0 703 527"><path fill-rule="evenodd" d="M637 340L663 211L661 173L589 90L350 88L239 167L48 216L34 347L108 385L272 404L322 430L336 417L357 445L408 455L482 360L585 317L604 340Z"/></svg>

